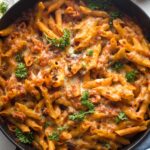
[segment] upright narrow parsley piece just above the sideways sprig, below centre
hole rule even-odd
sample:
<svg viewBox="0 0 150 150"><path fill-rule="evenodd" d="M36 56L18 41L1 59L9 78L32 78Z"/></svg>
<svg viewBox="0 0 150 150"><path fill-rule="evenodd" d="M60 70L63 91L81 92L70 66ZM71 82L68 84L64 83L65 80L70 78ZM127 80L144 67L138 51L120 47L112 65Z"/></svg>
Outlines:
<svg viewBox="0 0 150 150"><path fill-rule="evenodd" d="M94 109L94 104L89 101L89 92L84 91L81 97L81 104L86 106L89 110Z"/></svg>

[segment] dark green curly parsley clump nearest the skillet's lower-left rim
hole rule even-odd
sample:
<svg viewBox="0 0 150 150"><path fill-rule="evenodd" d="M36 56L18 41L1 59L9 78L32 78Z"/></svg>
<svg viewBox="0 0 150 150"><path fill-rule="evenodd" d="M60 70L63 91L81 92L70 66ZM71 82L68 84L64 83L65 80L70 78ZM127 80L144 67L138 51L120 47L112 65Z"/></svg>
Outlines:
<svg viewBox="0 0 150 150"><path fill-rule="evenodd" d="M23 133L20 129L17 128L15 130L15 134L16 134L16 137L18 138L18 140L21 143L24 143L24 144L31 144L32 141L34 140L32 132L30 132L30 133Z"/></svg>

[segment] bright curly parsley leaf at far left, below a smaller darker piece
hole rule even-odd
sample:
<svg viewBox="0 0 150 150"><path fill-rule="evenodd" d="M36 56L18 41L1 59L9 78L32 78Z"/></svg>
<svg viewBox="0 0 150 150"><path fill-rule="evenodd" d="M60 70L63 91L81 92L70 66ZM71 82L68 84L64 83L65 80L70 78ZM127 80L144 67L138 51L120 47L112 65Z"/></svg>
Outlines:
<svg viewBox="0 0 150 150"><path fill-rule="evenodd" d="M24 79L27 77L28 71L24 63L19 63L17 65L15 74L16 74L16 77L20 79Z"/></svg>

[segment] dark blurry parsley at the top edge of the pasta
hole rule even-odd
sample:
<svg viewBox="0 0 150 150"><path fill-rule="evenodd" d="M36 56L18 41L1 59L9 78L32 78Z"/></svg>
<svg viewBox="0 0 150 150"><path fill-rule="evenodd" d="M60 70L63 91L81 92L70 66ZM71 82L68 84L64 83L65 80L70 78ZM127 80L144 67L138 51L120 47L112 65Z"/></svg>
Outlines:
<svg viewBox="0 0 150 150"><path fill-rule="evenodd" d="M88 7L92 10L102 9L106 10L111 6L111 0L85 0Z"/></svg>

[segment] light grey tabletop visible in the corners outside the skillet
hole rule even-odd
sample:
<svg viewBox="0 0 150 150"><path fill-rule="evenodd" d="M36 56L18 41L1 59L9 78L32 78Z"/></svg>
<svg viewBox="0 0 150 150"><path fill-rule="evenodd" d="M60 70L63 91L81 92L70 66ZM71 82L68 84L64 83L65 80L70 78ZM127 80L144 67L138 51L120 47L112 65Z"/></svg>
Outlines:
<svg viewBox="0 0 150 150"><path fill-rule="evenodd" d="M9 3L10 7L12 4L14 4L14 2L17 2L18 0L5 0L5 1ZM132 1L135 2L137 5L139 5L150 16L150 0L132 0ZM143 146L145 146L146 143L150 143L150 137L147 141L145 141ZM1 132L0 132L0 150L15 150L15 146L12 143L10 143L10 141L8 141ZM146 150L146 148L139 148L136 150Z"/></svg>

